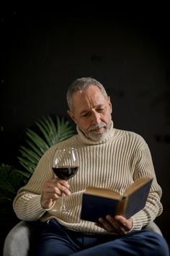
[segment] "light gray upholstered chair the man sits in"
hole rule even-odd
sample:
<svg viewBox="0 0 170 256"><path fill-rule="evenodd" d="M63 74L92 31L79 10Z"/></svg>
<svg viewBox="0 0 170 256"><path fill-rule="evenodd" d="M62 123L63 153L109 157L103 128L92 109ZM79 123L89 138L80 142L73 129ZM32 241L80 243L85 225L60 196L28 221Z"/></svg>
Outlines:
<svg viewBox="0 0 170 256"><path fill-rule="evenodd" d="M154 222L149 223L145 229L162 236ZM6 236L3 256L34 256L39 233L40 229L34 222L20 221Z"/></svg>

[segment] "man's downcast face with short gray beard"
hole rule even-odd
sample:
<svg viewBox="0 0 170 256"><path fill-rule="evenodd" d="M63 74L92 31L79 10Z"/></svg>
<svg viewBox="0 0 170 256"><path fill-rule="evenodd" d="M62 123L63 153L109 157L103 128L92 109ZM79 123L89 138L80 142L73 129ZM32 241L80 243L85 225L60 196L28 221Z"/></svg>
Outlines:
<svg viewBox="0 0 170 256"><path fill-rule="evenodd" d="M104 140L112 121L112 104L95 85L72 95L73 109L68 111L86 137Z"/></svg>

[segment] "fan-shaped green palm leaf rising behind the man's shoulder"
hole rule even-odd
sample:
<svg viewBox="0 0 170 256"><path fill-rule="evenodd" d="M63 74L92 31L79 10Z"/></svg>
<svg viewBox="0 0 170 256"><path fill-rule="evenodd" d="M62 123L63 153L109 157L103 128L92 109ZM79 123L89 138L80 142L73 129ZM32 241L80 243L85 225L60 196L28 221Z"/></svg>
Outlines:
<svg viewBox="0 0 170 256"><path fill-rule="evenodd" d="M50 116L43 116L42 120L35 121L35 124L38 127L38 132L27 129L27 139L25 140L27 146L19 148L21 153L21 156L18 157L19 163L27 170L25 174L21 171L19 173L27 178L34 172L38 161L46 150L73 135L73 129L63 117L60 119L57 116L55 123Z"/></svg>

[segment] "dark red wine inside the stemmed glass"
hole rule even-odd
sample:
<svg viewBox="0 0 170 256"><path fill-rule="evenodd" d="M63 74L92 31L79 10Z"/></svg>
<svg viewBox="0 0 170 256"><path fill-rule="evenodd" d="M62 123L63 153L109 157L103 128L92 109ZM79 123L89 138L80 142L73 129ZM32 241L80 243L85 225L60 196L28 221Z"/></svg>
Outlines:
<svg viewBox="0 0 170 256"><path fill-rule="evenodd" d="M71 179L78 171L79 166L55 166L53 167L54 173L59 179Z"/></svg>

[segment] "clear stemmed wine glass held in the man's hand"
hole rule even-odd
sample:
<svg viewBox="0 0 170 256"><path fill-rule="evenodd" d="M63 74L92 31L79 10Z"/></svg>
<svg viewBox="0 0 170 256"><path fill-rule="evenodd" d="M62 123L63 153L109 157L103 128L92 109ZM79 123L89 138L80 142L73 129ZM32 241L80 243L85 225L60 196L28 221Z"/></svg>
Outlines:
<svg viewBox="0 0 170 256"><path fill-rule="evenodd" d="M55 150L52 167L58 179L71 179L79 169L76 150L74 148L57 148ZM59 211L70 211L66 209L66 205L64 204L64 195L61 197L61 208Z"/></svg>

